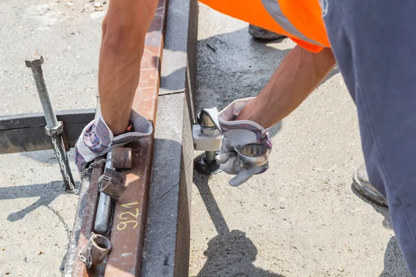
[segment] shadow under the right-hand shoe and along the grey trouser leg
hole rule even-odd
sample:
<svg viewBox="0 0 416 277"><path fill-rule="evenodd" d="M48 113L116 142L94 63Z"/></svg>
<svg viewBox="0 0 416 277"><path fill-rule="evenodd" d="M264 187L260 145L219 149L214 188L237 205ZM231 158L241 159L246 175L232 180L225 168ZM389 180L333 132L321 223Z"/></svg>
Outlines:
<svg viewBox="0 0 416 277"><path fill-rule="evenodd" d="M392 230L392 222L390 220L390 213L388 211L388 207L376 204L372 202L370 199L367 199L367 197L364 197L361 195L361 193L354 188L354 186L351 186L352 192L362 199L367 204L370 204L374 210L377 213L381 213L383 215L384 219L381 224L386 229ZM385 247L385 253L384 253L384 269L383 272L381 272L380 277L388 277L388 276L400 276L400 277L410 277L410 273L406 267L406 262L404 261L403 255L401 253L401 250L399 249L399 244L397 243L396 237L392 236L390 240L388 241L387 247Z"/></svg>

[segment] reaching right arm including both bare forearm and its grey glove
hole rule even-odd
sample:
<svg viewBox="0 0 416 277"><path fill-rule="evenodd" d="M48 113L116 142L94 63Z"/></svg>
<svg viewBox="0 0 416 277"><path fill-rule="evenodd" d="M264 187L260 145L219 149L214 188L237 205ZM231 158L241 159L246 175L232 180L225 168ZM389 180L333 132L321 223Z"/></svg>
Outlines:
<svg viewBox="0 0 416 277"><path fill-rule="evenodd" d="M236 150L252 143L263 145L266 151L271 150L267 128L295 110L335 63L329 48L320 53L311 53L296 46L284 58L257 98L236 100L220 112L219 127L224 136L217 161L222 170L236 175L229 181L230 185L239 186L252 175L268 168L268 163L241 166Z"/></svg>

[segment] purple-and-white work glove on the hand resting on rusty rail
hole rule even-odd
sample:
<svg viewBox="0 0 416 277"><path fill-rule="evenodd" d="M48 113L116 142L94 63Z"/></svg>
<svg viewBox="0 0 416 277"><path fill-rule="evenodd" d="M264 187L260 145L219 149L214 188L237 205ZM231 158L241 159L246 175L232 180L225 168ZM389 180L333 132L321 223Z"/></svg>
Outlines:
<svg viewBox="0 0 416 277"><path fill-rule="evenodd" d="M82 172L90 161L107 154L115 146L137 141L153 132L150 122L133 110L130 114L130 123L125 134L114 136L101 114L92 120L83 129L75 145L75 163L78 171Z"/></svg>

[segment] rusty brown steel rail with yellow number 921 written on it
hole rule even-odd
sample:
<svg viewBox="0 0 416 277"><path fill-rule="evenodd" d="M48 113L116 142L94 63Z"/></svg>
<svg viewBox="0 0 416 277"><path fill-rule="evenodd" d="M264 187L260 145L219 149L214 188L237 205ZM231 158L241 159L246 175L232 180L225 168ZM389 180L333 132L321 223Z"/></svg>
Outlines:
<svg viewBox="0 0 416 277"><path fill-rule="evenodd" d="M160 63L164 44L164 26L166 21L167 0L159 0L156 15L146 34L144 55L141 61L140 82L136 91L133 109L145 116L155 125L157 98L159 93ZM132 168L123 173L126 190L117 199L114 209L110 241L112 251L105 265L87 269L78 260L80 249L86 244L93 230L95 213L86 213L83 219L78 241L77 260L72 276L139 276L141 253L144 244L146 224L148 185L150 182L153 134L127 147L132 148ZM103 167L101 168L101 172ZM94 169L89 188L87 209L96 210L98 169Z"/></svg>

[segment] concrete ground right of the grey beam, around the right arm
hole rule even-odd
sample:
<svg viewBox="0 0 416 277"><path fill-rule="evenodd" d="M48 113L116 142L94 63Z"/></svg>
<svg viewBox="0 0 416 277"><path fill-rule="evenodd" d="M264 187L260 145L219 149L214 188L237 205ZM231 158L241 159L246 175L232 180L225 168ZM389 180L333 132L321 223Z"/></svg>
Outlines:
<svg viewBox="0 0 416 277"><path fill-rule="evenodd" d="M257 95L295 45L256 42L248 24L206 6L199 19L197 110ZM352 189L363 156L340 73L277 131L270 169L243 186L194 172L189 275L409 276L388 208Z"/></svg>

